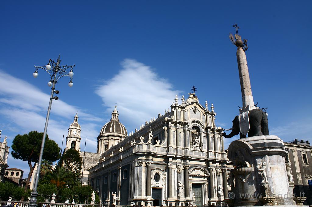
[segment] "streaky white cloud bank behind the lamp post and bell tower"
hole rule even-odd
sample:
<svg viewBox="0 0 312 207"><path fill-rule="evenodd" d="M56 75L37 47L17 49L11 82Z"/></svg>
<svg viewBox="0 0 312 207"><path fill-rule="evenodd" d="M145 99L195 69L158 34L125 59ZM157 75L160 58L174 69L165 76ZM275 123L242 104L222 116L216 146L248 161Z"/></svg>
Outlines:
<svg viewBox="0 0 312 207"><path fill-rule="evenodd" d="M0 128L3 130L2 137L3 135L7 136L8 145L11 146L11 142L17 134L25 134L33 130L43 131L50 95L43 93L27 81L13 77L4 71L0 70L0 74ZM54 108L57 110L53 110ZM87 136L86 151L96 152L95 138L98 136L97 129L100 126L90 123L90 121L100 121L102 124L103 120L62 100L53 101L47 134L61 147L63 134L66 137L68 127L74 119L73 116L77 108L79 110L79 123L82 128L80 147L84 149L83 137ZM64 139L63 148L65 142ZM13 159L10 155L8 165L21 168L25 171L24 177L27 177L29 172L27 162Z"/></svg>

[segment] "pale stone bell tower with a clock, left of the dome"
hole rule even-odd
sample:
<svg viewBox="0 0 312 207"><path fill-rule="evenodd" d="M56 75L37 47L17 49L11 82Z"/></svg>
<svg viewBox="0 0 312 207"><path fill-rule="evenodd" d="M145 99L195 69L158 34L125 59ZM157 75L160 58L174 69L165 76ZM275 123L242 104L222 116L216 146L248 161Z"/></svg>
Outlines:
<svg viewBox="0 0 312 207"><path fill-rule="evenodd" d="M78 124L78 113L74 117L74 122L68 128L68 135L66 136L66 148L65 150L69 150L71 148L80 151L80 132L81 128Z"/></svg>

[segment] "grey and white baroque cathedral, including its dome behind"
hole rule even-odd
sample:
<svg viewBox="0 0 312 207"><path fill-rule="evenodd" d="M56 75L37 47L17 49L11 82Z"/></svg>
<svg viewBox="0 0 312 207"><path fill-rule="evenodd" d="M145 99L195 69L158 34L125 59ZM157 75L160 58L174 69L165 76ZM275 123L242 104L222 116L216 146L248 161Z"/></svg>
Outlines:
<svg viewBox="0 0 312 207"><path fill-rule="evenodd" d="M98 136L98 163L89 185L102 202L117 205L217 205L227 198L231 163L213 105L189 93L127 135L115 107Z"/></svg>

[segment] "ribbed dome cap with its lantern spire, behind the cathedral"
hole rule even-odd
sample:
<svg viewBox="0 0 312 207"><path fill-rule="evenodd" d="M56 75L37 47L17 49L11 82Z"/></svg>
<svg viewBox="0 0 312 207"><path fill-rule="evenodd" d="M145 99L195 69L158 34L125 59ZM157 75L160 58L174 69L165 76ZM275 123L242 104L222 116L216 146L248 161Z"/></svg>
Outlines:
<svg viewBox="0 0 312 207"><path fill-rule="evenodd" d="M112 118L110 119L109 122L107 122L104 125L104 127L102 127L99 136L108 135L110 133L119 134L119 136L127 136L126 127L124 127L124 125L119 122L118 115L119 115L119 113L118 113L117 108L115 106L115 109L112 113Z"/></svg>

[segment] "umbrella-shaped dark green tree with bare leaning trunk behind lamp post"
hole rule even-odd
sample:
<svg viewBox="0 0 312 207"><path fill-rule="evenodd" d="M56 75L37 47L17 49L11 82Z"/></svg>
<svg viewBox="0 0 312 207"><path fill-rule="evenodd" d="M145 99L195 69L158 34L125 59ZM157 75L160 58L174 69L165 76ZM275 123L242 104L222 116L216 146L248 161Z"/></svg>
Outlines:
<svg viewBox="0 0 312 207"><path fill-rule="evenodd" d="M21 159L23 161L27 161L30 171L25 183L25 192L27 191L27 187L29 184L29 180L32 176L32 172L38 163L39 153L41 148L42 141L42 132L31 131L28 134L17 135L15 136L12 142L12 157L15 159ZM43 150L42 159L54 162L59 159L60 148L56 144L55 141L50 140L48 135L46 135L46 142ZM33 163L33 164L32 164Z"/></svg>

